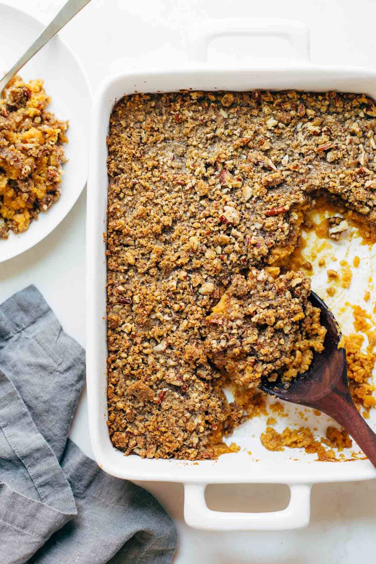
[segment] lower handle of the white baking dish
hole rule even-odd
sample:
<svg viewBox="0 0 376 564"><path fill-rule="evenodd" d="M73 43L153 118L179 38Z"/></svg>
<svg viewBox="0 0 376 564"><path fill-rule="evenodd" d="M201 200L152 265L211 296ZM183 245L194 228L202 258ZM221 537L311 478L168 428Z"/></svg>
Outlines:
<svg viewBox="0 0 376 564"><path fill-rule="evenodd" d="M286 509L268 513L228 513L209 509L207 484L184 484L184 519L193 528L209 531L285 531L307 527L311 512L311 486L290 485Z"/></svg>

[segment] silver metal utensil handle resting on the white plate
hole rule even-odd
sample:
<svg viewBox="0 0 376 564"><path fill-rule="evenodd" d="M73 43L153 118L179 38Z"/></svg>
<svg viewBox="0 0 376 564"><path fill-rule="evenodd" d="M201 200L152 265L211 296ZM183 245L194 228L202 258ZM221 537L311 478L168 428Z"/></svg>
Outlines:
<svg viewBox="0 0 376 564"><path fill-rule="evenodd" d="M42 49L52 37L64 27L72 19L73 16L78 14L80 10L90 0L68 0L68 2L61 8L59 14L57 14L54 19L45 29L43 29L40 36L34 41L33 45L25 52L23 56L17 61L17 63L10 69L9 72L0 80L0 98L3 97L3 91L12 78L17 74L17 72L26 64L38 51Z"/></svg>

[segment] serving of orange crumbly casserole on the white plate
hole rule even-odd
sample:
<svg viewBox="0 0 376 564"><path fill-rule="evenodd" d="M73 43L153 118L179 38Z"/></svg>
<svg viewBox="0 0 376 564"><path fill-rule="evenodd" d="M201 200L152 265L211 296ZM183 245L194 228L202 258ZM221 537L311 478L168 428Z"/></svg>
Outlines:
<svg viewBox="0 0 376 564"><path fill-rule="evenodd" d="M0 99L0 239L26 231L59 199L68 122L47 111L42 80L15 76Z"/></svg>

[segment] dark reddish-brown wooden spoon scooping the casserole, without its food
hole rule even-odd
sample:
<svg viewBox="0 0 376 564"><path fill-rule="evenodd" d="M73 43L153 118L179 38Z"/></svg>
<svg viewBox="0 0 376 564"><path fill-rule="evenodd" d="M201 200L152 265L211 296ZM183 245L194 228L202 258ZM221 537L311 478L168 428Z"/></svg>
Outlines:
<svg viewBox="0 0 376 564"><path fill-rule="evenodd" d="M346 351L338 349L340 331L328 306L311 292L312 305L321 310L320 321L326 327L323 352L314 353L307 372L291 380L268 382L260 390L286 402L313 407L333 417L351 435L376 466L376 435L355 407L348 389Z"/></svg>

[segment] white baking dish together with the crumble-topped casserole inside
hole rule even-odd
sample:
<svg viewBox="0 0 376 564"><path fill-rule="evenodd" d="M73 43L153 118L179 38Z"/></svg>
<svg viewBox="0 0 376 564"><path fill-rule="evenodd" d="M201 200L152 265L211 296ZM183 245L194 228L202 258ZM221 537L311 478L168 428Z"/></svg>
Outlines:
<svg viewBox="0 0 376 564"><path fill-rule="evenodd" d="M296 377L320 350L322 328L307 309L312 280L349 339L353 396L373 422L372 230L357 223L375 214L373 75L288 71L120 75L94 108L93 451L119 477L183 481L193 526L303 526L304 484L374 476L367 460L324 462L361 457L328 417L265 403L256 389L263 377ZM290 504L267 516L210 512L213 482L288 483Z"/></svg>

